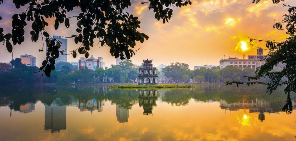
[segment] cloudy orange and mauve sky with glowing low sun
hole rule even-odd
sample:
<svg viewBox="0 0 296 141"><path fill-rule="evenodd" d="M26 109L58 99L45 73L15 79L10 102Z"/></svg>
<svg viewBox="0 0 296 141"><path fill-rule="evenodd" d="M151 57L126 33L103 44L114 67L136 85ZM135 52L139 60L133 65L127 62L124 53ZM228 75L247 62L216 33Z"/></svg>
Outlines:
<svg viewBox="0 0 296 141"><path fill-rule="evenodd" d="M294 1L295 2L295 1ZM252 0L192 0L192 5L186 7L174 7L173 15L169 23L163 24L162 20L154 19L152 10L148 10L148 4L141 4L141 0L132 0L131 7L126 12L138 16L141 28L138 30L149 36L149 39L136 43L135 49L139 49L136 55L131 57L133 63L140 65L144 59L153 60L153 65L170 65L170 63L187 63L190 69L196 65L219 65L221 58L239 57L243 55L257 55L256 47L250 46L249 38L284 41L288 35L286 31L273 28L277 20L282 20L282 15L288 14L287 7L283 4L293 5L293 0L286 0L279 4L273 4L271 0L261 0L259 4L252 4ZM4 33L11 31L12 15L22 13L27 6L16 9L12 0L4 0L0 5L0 16L3 20L0 27ZM79 12L74 9L69 16ZM54 19L45 19L50 26L46 30L50 35L71 36L76 34L75 19L70 19L70 28L60 24L59 29L54 29ZM33 55L36 57L36 65L41 66L45 59L45 52L38 52L42 48L42 40L36 43L30 40L31 23L27 22L25 28L25 42L13 47L13 58L20 55ZM248 37L247 37L248 36ZM253 43L265 48L264 44ZM68 39L68 51L78 48L74 39ZM94 46L89 56L103 57L105 66L116 64L116 59L109 53L109 47ZM268 52L264 51L263 55ZM67 56L68 62L77 62L84 55L78 54L76 58ZM11 53L5 45L0 44L0 62L9 62Z"/></svg>

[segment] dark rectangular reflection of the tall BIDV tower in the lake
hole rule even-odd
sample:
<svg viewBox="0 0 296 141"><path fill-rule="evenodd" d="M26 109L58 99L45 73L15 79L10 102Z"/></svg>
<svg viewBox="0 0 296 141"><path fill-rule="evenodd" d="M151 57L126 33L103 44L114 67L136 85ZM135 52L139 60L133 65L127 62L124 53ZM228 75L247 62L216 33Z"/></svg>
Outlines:
<svg viewBox="0 0 296 141"><path fill-rule="evenodd" d="M58 106L56 100L52 105L45 105L44 130L59 132L66 129L66 106Z"/></svg>

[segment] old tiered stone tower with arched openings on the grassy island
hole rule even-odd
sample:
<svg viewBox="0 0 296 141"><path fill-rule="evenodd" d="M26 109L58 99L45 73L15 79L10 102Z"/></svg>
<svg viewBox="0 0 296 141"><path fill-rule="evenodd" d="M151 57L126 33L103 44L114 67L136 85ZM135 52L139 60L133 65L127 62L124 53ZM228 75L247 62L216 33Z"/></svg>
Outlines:
<svg viewBox="0 0 296 141"><path fill-rule="evenodd" d="M139 68L138 84L139 85L157 85L156 68L152 67L152 60L143 60L143 68Z"/></svg>

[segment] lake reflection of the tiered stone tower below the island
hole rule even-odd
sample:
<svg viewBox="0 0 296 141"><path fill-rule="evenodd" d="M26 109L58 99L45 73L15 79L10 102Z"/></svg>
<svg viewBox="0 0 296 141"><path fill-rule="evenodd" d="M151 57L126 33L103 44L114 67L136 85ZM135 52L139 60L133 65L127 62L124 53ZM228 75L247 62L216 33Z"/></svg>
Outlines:
<svg viewBox="0 0 296 141"><path fill-rule="evenodd" d="M153 107L156 107L157 90L139 90L139 105L143 106L143 114L152 114Z"/></svg>

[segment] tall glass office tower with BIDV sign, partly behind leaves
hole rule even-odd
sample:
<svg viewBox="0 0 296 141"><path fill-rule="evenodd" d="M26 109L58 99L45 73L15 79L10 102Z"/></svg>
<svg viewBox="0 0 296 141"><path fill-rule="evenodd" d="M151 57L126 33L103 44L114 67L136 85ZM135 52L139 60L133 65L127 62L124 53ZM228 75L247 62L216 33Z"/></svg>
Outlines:
<svg viewBox="0 0 296 141"><path fill-rule="evenodd" d="M61 42L61 47L59 48L59 50L64 51L64 52L67 52L67 39L63 39L63 38L61 38L61 36L53 36L53 38L50 38L50 39L51 40L52 39L59 40ZM47 48L48 47L46 46L46 52L45 52L45 54L47 53ZM67 55L61 55L60 54L59 55L59 58L56 58L55 59L55 63L59 63L59 62L67 62Z"/></svg>

